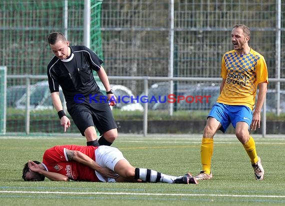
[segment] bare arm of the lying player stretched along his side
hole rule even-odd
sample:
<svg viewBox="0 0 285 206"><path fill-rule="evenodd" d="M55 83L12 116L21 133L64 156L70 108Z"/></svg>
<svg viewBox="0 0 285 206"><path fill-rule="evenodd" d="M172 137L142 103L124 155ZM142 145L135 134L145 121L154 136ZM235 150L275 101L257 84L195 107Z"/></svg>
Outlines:
<svg viewBox="0 0 285 206"><path fill-rule="evenodd" d="M82 163L84 165L89 166L90 168L98 171L99 173L102 174L104 177L109 177L109 178L117 178L118 175L112 171L111 169L107 167L101 167L97 162L95 162L92 158L87 156L86 154L76 151L76 150L69 150L65 149L66 151L66 156L68 161L74 160L79 163Z"/></svg>

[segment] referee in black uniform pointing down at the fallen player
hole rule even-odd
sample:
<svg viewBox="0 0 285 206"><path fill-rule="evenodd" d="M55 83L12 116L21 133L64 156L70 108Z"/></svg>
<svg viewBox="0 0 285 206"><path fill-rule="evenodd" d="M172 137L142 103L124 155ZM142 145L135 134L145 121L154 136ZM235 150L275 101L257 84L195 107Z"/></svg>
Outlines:
<svg viewBox="0 0 285 206"><path fill-rule="evenodd" d="M54 53L47 65L48 84L64 132L70 126L70 120L62 109L59 85L66 100L67 111L81 134L86 137L87 145L111 145L117 137L117 125L107 99L113 106L116 97L101 66L103 61L86 46L69 46L69 41L60 32L50 33L48 44ZM95 82L92 70L97 72L103 83L107 99ZM99 140L95 127L102 134Z"/></svg>

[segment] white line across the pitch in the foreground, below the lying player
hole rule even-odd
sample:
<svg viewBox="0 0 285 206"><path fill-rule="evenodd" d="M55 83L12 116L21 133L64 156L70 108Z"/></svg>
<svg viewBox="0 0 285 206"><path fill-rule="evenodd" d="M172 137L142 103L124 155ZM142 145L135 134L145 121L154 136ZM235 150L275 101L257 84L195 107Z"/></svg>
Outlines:
<svg viewBox="0 0 285 206"><path fill-rule="evenodd" d="M170 195L170 196L229 196L229 197L271 197L285 198L285 195L242 195L242 194L165 194L165 193L132 193L132 192L64 192L64 191L0 191L0 193L38 193L38 194L117 194L117 195Z"/></svg>

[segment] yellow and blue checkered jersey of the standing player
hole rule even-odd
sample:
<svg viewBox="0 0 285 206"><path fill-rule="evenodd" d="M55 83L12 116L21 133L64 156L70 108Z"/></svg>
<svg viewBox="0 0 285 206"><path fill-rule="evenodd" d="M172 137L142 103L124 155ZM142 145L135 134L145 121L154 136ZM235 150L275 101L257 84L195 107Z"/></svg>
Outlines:
<svg viewBox="0 0 285 206"><path fill-rule="evenodd" d="M236 50L224 53L220 75L225 79L225 83L217 102L245 105L251 110L255 103L258 83L268 83L265 59L252 48L247 54L238 54Z"/></svg>

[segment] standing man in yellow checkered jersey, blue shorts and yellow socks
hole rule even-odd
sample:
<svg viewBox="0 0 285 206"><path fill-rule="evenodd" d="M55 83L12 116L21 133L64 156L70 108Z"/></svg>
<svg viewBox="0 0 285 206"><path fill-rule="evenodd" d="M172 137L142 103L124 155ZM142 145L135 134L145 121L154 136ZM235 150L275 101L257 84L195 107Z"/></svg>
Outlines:
<svg viewBox="0 0 285 206"><path fill-rule="evenodd" d="M260 111L267 91L268 73L264 57L249 47L250 31L242 24L233 26L231 41L233 50L223 54L221 59L220 95L210 110L203 132L200 147L202 171L197 180L211 179L211 156L213 153L213 136L220 129L225 132L231 123L235 135L242 143L250 158L254 175L262 180L264 169L257 156L255 142L249 134L249 128L260 127ZM256 89L259 88L254 111Z"/></svg>

